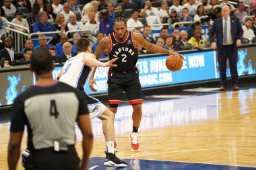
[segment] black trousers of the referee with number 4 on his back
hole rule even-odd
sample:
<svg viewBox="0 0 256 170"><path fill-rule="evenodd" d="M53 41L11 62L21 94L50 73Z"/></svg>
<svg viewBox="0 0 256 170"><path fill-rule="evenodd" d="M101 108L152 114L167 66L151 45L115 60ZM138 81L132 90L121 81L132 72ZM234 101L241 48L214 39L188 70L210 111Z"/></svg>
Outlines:
<svg viewBox="0 0 256 170"><path fill-rule="evenodd" d="M53 148L35 150L28 157L26 170L77 170L79 157L74 145L68 146L67 152L55 152Z"/></svg>

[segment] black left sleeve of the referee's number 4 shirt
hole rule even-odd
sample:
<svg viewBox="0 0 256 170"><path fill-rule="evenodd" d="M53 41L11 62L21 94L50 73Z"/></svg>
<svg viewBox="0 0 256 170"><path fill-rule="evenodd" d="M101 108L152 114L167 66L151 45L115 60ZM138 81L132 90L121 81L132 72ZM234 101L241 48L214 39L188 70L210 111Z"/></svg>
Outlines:
<svg viewBox="0 0 256 170"><path fill-rule="evenodd" d="M23 132L26 115L24 112L24 103L17 97L11 107L11 128L10 132Z"/></svg>

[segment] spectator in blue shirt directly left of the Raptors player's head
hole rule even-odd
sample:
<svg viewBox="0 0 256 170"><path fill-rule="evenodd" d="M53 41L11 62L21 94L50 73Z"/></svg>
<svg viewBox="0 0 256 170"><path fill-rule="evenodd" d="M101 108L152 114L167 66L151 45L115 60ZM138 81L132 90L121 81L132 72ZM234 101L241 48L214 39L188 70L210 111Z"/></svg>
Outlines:
<svg viewBox="0 0 256 170"><path fill-rule="evenodd" d="M111 32L114 32L114 20L108 17L108 11L103 9L101 11L102 19L100 20L100 31L108 36Z"/></svg>

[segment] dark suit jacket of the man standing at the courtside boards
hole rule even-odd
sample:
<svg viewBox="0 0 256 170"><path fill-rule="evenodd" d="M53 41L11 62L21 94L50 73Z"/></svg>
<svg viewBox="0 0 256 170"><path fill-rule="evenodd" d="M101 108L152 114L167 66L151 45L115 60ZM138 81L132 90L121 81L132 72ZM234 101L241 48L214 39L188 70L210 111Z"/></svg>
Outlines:
<svg viewBox="0 0 256 170"><path fill-rule="evenodd" d="M210 44L215 42L214 37L217 39L217 49L219 52L222 52L222 45L223 45L223 24L222 18L219 17L218 19L214 20L214 24L212 25L212 29L209 32ZM232 40L234 41L234 50L237 50L236 40L243 39L243 28L240 25L239 19L237 17L230 16L230 30L232 35ZM214 36L215 35L215 36Z"/></svg>

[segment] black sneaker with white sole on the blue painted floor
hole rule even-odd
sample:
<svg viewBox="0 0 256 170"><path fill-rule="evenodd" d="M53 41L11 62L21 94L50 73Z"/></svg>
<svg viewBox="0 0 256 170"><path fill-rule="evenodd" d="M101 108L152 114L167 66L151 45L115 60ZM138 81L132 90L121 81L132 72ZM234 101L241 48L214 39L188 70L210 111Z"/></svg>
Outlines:
<svg viewBox="0 0 256 170"><path fill-rule="evenodd" d="M104 162L104 166L106 167L127 167L127 163L125 161L121 161L118 157L116 157L115 153L107 153L105 151L106 158Z"/></svg>

